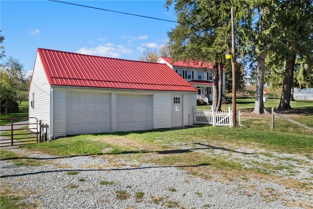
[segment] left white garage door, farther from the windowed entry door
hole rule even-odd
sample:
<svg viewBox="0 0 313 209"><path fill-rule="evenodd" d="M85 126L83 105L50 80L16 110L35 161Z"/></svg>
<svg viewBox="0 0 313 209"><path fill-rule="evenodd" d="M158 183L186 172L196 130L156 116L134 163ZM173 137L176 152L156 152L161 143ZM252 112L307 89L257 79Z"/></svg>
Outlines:
<svg viewBox="0 0 313 209"><path fill-rule="evenodd" d="M110 94L67 92L67 135L110 132Z"/></svg>

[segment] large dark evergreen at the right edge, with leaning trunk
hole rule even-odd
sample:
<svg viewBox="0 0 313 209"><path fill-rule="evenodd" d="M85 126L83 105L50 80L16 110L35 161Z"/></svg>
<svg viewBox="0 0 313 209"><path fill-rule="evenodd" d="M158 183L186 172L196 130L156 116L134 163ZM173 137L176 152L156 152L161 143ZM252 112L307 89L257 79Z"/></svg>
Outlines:
<svg viewBox="0 0 313 209"><path fill-rule="evenodd" d="M291 89L296 59L313 57L313 2L296 0L279 2L275 9L273 26L279 33L278 41L273 45L276 48L277 60L285 61L282 93L277 109L288 110L291 109Z"/></svg>

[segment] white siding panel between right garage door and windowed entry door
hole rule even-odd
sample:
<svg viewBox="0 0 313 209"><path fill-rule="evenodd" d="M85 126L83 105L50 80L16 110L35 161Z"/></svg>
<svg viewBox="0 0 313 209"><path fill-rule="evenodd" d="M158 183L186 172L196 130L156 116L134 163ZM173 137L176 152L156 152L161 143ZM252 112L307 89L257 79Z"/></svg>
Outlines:
<svg viewBox="0 0 313 209"><path fill-rule="evenodd" d="M155 93L153 99L153 128L172 127L172 94Z"/></svg>

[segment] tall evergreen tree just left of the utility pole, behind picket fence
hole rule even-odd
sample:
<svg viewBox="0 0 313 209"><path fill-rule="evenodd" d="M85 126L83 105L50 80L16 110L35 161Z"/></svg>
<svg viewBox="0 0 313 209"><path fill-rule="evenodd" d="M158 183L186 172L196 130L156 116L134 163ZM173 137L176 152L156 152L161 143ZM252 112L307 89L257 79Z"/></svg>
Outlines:
<svg viewBox="0 0 313 209"><path fill-rule="evenodd" d="M168 33L173 59L213 63L212 105L219 110L218 98L221 104L222 95L218 96L218 69L219 63L224 63L225 52L229 50L227 33L230 28L229 2L193 0L168 0L166 2L167 7L172 4L175 4L179 23ZM228 8L227 16L218 7Z"/></svg>

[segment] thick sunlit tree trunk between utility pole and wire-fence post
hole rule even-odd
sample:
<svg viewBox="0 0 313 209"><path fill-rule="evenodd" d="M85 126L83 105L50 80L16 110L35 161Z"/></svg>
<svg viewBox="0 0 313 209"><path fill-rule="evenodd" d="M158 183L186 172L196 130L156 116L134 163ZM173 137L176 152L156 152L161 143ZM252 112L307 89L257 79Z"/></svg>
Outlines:
<svg viewBox="0 0 313 209"><path fill-rule="evenodd" d="M261 53L258 56L258 67L256 69L257 80L256 80L256 90L255 90L255 104L254 104L254 110L252 113L257 114L257 115L262 114L262 113L267 113L266 109L264 108L264 103L263 103L265 56L266 56L266 51L264 49L263 51L261 51Z"/></svg>

